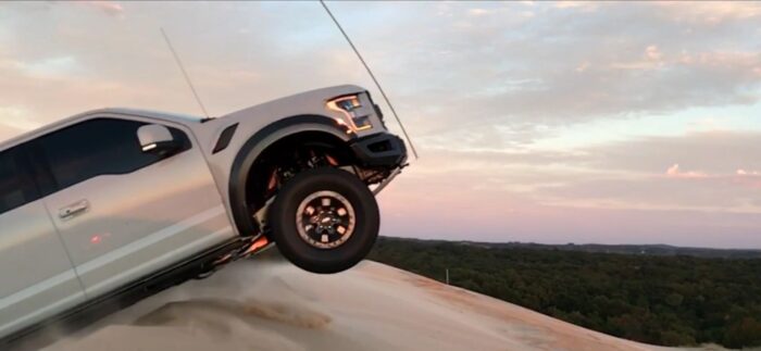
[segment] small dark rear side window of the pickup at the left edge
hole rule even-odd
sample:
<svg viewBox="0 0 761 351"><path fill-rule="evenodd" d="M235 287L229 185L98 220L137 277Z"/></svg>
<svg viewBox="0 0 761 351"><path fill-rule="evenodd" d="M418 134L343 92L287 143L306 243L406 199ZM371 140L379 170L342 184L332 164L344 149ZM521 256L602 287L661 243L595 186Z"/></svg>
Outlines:
<svg viewBox="0 0 761 351"><path fill-rule="evenodd" d="M0 152L0 214L39 198L32 175L20 163L17 150Z"/></svg>

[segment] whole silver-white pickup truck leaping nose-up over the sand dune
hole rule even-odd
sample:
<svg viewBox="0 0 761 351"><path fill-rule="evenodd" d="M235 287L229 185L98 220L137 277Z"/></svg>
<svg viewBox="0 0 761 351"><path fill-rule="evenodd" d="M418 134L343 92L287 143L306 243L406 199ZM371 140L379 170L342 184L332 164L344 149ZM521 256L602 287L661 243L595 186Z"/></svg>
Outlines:
<svg viewBox="0 0 761 351"><path fill-rule="evenodd" d="M0 339L203 277L273 242L304 269L347 269L377 237L373 192L406 160L357 86L219 118L96 110L7 141Z"/></svg>

